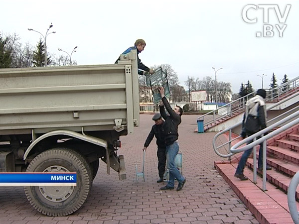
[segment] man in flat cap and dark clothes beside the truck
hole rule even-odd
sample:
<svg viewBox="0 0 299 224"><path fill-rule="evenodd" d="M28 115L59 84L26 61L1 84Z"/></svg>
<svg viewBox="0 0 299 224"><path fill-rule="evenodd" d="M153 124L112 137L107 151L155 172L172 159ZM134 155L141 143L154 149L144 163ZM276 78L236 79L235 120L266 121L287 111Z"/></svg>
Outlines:
<svg viewBox="0 0 299 224"><path fill-rule="evenodd" d="M145 142L143 150L147 150L149 147L149 143L153 139L153 136L156 138L156 144L158 146L157 150L157 157L158 157L158 171L159 171L159 179L157 183L163 181L163 175L165 172L165 163L166 163L166 145L165 145L165 138L163 135L163 124L164 121L162 120L160 113L155 113L152 117L154 121L154 125L152 125L151 130L149 132L149 136Z"/></svg>

